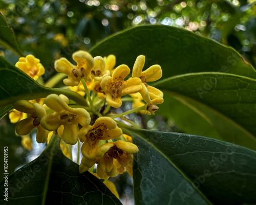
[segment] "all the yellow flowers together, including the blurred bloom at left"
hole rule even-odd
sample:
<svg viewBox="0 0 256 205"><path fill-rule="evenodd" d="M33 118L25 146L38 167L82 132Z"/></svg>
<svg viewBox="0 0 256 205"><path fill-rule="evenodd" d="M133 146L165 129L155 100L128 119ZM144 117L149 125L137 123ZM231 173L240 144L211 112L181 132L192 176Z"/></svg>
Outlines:
<svg viewBox="0 0 256 205"><path fill-rule="evenodd" d="M55 69L68 76L63 83L81 96L84 96L88 90L92 90L97 93L98 99L105 99L109 107L118 108L122 105L121 97L130 95L134 98L134 108L142 107L143 109L144 107L141 112L147 115L154 115L158 109L156 104L163 102L163 93L147 85L148 82L161 78L161 67L152 65L142 71L145 63L143 55L137 57L132 74L125 64L115 68L114 55L93 58L85 51L77 51L72 57L76 65L66 58L60 58L55 61ZM34 79L44 71L39 60L32 55L20 58L16 66ZM129 74L131 77L126 79ZM86 81L87 86L82 79ZM97 164L97 176L102 179L116 176L124 171L132 175L133 154L138 152L138 147L132 143L130 136L123 134L122 129L117 127L117 123L112 118L104 117L104 112L103 117L91 120L86 109L72 108L66 96L56 94L30 102L18 100L13 107L15 109L9 115L10 120L13 123L17 122L16 133L24 135L23 144L27 149L31 149L31 139L28 134L33 128L37 129L38 143L47 142L48 138L51 138L52 131L55 131L62 139L61 146L66 150L66 155L69 154L67 149L69 145L75 145L78 140L83 143L80 173ZM119 137L122 134L126 141L120 140L122 138ZM117 140L113 141L113 139Z"/></svg>

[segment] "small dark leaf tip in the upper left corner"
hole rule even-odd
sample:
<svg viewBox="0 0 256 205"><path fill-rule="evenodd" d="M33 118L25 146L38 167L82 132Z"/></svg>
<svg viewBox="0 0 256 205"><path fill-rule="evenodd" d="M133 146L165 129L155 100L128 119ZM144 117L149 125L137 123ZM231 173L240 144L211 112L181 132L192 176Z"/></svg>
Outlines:
<svg viewBox="0 0 256 205"><path fill-rule="evenodd" d="M14 31L11 28L6 17L0 12L0 44L3 47L12 50L18 56L25 56L24 53L20 50L17 43Z"/></svg>

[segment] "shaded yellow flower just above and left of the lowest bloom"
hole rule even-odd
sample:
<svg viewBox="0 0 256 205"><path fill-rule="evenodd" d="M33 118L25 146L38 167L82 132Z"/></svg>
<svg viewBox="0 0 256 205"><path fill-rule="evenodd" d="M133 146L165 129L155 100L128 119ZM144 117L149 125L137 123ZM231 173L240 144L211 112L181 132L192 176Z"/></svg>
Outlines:
<svg viewBox="0 0 256 205"><path fill-rule="evenodd" d="M98 118L94 125L82 127L79 131L79 139L84 142L81 147L82 155L94 158L100 140L111 140L122 135L122 129L117 128L116 122L109 117Z"/></svg>

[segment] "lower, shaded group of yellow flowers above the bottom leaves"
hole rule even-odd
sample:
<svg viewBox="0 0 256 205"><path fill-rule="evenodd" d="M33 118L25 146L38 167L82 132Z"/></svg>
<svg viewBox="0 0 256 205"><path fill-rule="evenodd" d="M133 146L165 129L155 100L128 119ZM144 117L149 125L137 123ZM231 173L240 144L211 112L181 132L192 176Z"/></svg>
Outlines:
<svg viewBox="0 0 256 205"><path fill-rule="evenodd" d="M138 147L130 142L118 140L99 146L100 141L109 141L122 135L122 130L116 122L109 117L98 118L90 125L91 117L83 108L71 108L69 99L64 95L49 95L44 105L18 100L13 106L20 112L27 113L26 119L16 124L16 133L27 135L33 128L37 129L36 141L45 143L49 131L58 130L63 142L74 145L78 137L83 145L83 154L80 172L87 171L95 163L98 164L97 174L100 178L108 178L123 173L126 167L132 165L133 154L138 152ZM82 128L78 132L78 124ZM50 134L51 135L51 134ZM25 142L26 140L26 142ZM24 146L31 148L31 141L24 138Z"/></svg>

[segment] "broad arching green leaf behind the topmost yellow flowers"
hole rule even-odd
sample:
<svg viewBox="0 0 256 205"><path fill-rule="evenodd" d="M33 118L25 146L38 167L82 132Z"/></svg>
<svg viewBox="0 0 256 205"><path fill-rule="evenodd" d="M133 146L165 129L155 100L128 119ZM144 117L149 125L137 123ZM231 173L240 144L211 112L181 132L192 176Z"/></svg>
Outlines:
<svg viewBox="0 0 256 205"><path fill-rule="evenodd" d="M131 69L139 55L146 56L145 69L159 64L163 77L196 72L223 72L256 78L254 68L242 56L214 40L175 27L140 26L119 32L90 50L93 56L114 54L116 65Z"/></svg>

